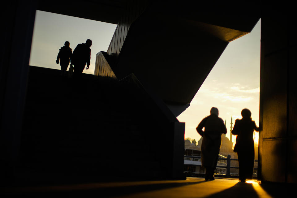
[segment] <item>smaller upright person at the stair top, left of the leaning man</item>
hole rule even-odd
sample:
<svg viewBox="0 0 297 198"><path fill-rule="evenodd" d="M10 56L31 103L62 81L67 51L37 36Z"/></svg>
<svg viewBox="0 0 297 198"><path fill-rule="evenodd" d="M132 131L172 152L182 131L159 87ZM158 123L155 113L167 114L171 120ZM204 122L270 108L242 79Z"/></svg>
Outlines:
<svg viewBox="0 0 297 198"><path fill-rule="evenodd" d="M66 76L67 75L67 67L69 65L69 62L71 60L72 56L72 49L69 47L70 43L69 41L65 41L64 46L59 49L59 53L57 56L56 63L61 66L61 75Z"/></svg>

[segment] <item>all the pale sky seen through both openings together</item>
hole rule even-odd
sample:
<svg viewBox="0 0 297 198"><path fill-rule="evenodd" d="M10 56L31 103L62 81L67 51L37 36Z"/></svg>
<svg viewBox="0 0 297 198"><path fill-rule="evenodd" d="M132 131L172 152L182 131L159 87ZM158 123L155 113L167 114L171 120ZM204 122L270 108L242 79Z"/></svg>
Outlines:
<svg viewBox="0 0 297 198"><path fill-rule="evenodd" d="M84 73L94 74L96 54L107 51L115 28L115 24L37 11L29 65L60 70L56 58L64 42L69 41L74 50L77 44L91 39L91 65ZM231 116L234 125L243 108L251 110L252 119L259 126L259 92L260 20L251 33L229 43L191 105L178 116L180 122L186 123L185 138L201 138L196 127L213 106L218 108L219 117L226 120L228 138Z"/></svg>

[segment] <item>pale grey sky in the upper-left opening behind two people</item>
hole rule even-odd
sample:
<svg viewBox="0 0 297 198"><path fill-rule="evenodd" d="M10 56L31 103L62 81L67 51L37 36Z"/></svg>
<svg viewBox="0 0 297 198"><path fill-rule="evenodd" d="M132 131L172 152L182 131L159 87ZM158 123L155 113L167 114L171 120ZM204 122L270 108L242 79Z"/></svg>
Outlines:
<svg viewBox="0 0 297 198"><path fill-rule="evenodd" d="M90 68L84 69L83 73L94 74L96 54L99 51L107 51L116 26L116 24L36 11L29 65L60 70L61 66L56 64L56 59L65 41L70 42L73 51L77 44L91 39Z"/></svg>

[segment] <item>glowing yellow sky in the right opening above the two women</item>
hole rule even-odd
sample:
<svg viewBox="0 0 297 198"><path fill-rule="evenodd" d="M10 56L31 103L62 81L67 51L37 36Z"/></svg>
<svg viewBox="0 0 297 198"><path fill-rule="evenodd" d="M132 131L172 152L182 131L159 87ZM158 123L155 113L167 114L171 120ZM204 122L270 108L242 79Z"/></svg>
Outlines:
<svg viewBox="0 0 297 198"><path fill-rule="evenodd" d="M260 97L260 20L251 33L231 41L193 98L191 105L177 118L185 122L185 138L200 140L196 127L211 107L226 120L230 139L230 122L241 119L241 110L248 108L259 126ZM255 141L258 141L256 133ZM233 136L232 141L235 141Z"/></svg>

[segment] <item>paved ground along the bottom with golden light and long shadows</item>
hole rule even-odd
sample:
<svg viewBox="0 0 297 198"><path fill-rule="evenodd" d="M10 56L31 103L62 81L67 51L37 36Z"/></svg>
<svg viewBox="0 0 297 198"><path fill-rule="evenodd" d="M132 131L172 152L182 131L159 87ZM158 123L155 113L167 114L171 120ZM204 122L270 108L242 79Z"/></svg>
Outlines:
<svg viewBox="0 0 297 198"><path fill-rule="evenodd" d="M0 187L0 195L30 195L38 197L129 197L129 198L198 198L198 197L285 197L296 185L261 184L256 180L241 183L237 179L204 178L166 181L138 181L114 183L89 183L36 187ZM296 188L295 188L296 189ZM294 197L294 196L293 196Z"/></svg>

